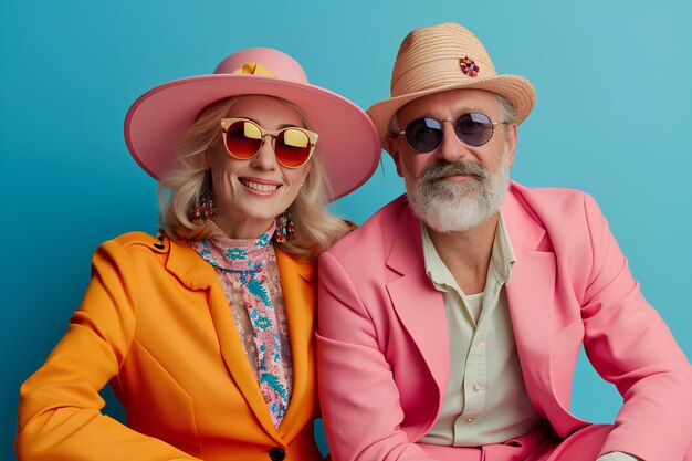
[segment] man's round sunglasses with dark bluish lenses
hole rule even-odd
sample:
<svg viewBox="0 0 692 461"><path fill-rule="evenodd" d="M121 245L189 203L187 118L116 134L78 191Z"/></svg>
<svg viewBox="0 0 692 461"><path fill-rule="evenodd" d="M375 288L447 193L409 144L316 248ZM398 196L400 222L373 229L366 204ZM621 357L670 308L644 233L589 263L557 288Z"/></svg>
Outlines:
<svg viewBox="0 0 692 461"><path fill-rule="evenodd" d="M464 144L479 147L493 137L495 125L506 125L506 122L492 122L485 114L472 112L462 114L455 121L438 121L432 117L421 117L409 122L403 132L406 142L419 154L430 153L442 143L442 122L453 122L457 137Z"/></svg>

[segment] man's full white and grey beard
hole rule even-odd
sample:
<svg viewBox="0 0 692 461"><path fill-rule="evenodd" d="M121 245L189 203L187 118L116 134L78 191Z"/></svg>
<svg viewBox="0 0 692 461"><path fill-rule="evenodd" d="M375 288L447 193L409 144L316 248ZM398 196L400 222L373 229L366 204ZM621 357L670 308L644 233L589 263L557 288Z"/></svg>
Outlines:
<svg viewBox="0 0 692 461"><path fill-rule="evenodd" d="M418 178L403 175L409 203L418 218L438 232L472 229L500 211L510 188L507 160L505 150L496 175L475 161L436 163ZM452 174L473 175L475 179L440 180Z"/></svg>

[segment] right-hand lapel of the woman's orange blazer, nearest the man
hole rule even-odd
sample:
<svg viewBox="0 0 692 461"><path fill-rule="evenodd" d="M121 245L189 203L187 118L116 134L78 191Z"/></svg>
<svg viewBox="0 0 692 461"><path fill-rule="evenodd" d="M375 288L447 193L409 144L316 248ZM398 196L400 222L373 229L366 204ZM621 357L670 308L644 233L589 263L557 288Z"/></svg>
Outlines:
<svg viewBox="0 0 692 461"><path fill-rule="evenodd" d="M315 379L314 344L315 331L315 263L298 261L276 249L276 263L281 275L291 356L293 360L293 392L286 415L279 427L285 441L293 440L302 429L296 419L305 415L304 399L308 384ZM305 402L312 405L312 402Z"/></svg>

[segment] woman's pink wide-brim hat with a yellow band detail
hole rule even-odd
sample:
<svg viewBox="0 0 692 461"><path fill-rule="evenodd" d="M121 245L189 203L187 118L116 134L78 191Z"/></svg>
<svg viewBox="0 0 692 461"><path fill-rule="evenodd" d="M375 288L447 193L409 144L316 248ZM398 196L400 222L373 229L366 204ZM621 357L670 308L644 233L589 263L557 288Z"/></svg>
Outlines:
<svg viewBox="0 0 692 461"><path fill-rule="evenodd" d="M379 140L366 113L347 98L310 84L293 57L269 48L239 51L211 75L164 83L141 95L125 117L127 148L158 180L176 167L176 143L200 112L239 95L280 97L307 116L310 129L319 136L316 155L324 164L331 200L357 189L377 168Z"/></svg>

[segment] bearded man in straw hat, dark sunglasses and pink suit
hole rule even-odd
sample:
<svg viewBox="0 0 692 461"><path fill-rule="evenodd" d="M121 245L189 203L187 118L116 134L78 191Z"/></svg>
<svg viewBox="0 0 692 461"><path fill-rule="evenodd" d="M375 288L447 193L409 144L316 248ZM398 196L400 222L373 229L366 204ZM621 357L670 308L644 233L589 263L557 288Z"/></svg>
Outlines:
<svg viewBox="0 0 692 461"><path fill-rule="evenodd" d="M531 83L447 23L403 40L391 94L368 115L406 196L319 260L333 460L692 460L690 364L598 206L510 181ZM581 345L612 426L569 413Z"/></svg>

